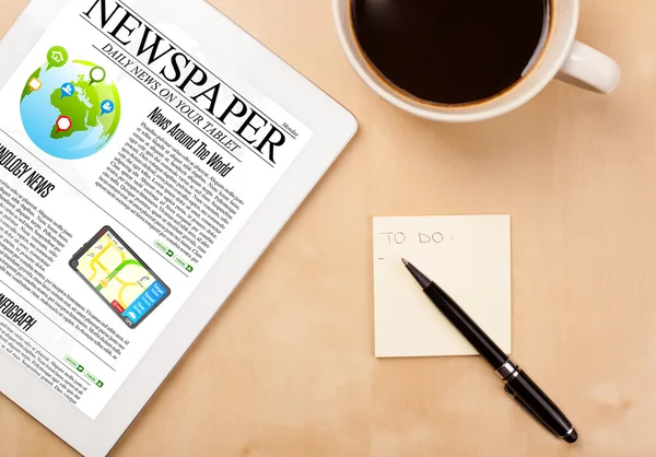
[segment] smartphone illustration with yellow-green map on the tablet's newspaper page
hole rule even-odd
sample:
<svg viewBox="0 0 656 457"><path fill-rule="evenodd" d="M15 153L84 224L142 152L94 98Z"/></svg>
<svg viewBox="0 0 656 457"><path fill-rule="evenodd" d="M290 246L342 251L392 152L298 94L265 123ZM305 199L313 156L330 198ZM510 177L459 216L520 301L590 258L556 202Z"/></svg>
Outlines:
<svg viewBox="0 0 656 457"><path fill-rule="evenodd" d="M130 328L139 326L171 294L109 226L78 250L69 265Z"/></svg>

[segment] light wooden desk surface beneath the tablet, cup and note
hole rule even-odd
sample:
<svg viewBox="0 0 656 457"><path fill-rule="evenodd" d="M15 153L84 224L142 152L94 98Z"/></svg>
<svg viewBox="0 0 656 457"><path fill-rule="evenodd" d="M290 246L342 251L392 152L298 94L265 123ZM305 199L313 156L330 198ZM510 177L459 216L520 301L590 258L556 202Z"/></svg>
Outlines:
<svg viewBox="0 0 656 457"><path fill-rule="evenodd" d="M583 0L578 37L620 62L616 94L552 83L467 126L367 90L329 0L214 2L361 131L115 455L656 455L654 0ZM2 2L0 33L25 3ZM372 215L452 213L512 214L514 358L574 420L575 446L479 358L374 359ZM0 455L74 453L0 396Z"/></svg>

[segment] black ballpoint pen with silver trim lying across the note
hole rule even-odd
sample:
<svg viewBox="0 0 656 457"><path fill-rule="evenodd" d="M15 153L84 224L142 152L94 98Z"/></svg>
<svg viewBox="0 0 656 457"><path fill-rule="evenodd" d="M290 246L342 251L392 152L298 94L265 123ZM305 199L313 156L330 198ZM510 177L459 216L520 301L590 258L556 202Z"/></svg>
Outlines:
<svg viewBox="0 0 656 457"><path fill-rule="evenodd" d="M578 438L572 422L532 379L513 363L462 308L412 263L401 259L424 293L504 380L504 390L549 432L567 443Z"/></svg>

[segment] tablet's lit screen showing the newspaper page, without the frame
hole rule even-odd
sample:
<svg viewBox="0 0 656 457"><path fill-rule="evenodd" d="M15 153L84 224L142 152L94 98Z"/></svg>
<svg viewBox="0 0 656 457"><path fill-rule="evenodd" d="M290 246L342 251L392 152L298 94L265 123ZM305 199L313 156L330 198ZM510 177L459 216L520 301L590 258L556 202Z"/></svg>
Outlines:
<svg viewBox="0 0 656 457"><path fill-rule="evenodd" d="M92 419L313 137L180 4L71 0L0 90L0 351Z"/></svg>

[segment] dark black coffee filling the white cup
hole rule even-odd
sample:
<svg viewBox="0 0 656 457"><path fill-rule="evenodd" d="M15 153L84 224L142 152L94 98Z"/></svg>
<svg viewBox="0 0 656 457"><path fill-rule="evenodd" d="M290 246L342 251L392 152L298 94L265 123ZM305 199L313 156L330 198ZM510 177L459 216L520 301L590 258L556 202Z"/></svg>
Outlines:
<svg viewBox="0 0 656 457"><path fill-rule="evenodd" d="M514 85L539 56L550 0L351 0L355 35L385 79L464 104Z"/></svg>

